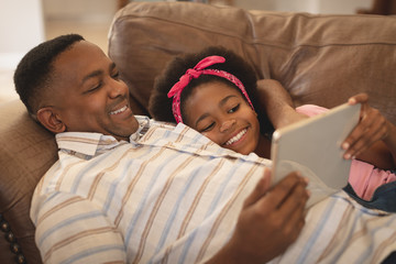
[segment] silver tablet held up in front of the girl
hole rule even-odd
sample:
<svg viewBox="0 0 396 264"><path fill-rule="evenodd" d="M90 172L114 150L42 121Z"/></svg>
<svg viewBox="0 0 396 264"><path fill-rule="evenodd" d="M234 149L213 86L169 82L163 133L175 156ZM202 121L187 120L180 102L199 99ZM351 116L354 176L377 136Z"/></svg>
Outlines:
<svg viewBox="0 0 396 264"><path fill-rule="evenodd" d="M358 124L360 108L360 103L344 103L276 130L271 147L272 184L299 170L309 179L307 207L345 187L351 160L342 157L341 144Z"/></svg>

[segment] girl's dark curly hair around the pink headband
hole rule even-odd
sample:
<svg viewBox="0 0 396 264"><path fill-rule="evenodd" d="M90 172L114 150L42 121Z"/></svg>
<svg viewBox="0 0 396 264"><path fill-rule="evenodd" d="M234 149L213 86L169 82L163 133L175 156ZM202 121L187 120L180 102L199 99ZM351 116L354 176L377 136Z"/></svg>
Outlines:
<svg viewBox="0 0 396 264"><path fill-rule="evenodd" d="M158 121L166 122L175 122L175 118L172 112L172 101L173 98L168 98L167 94L170 88L179 80L179 78L186 73L187 69L194 68L197 63L199 63L202 58L218 55L226 58L224 63L215 64L209 66L212 69L220 69L228 72L234 75L237 78L241 80L245 90L253 103L255 110L260 110L258 101L257 101L257 87L254 69L251 65L249 65L242 57L237 55L230 50L227 50L221 46L210 46L202 50L199 53L195 54L185 54L178 57L175 57L165 68L162 75L160 75L154 82L154 90L148 102L148 111L150 114ZM229 81L228 79L213 76L213 75L200 75L198 78L191 79L191 81L183 89L180 95L180 112L183 120L186 120L184 116L185 101L191 95L195 87L208 84L212 81L222 81L230 87L241 90L237 88L234 84ZM242 92L241 92L242 95ZM243 96L243 98L245 98ZM260 121L261 133L262 134L271 134L273 132L273 127L268 121L265 113L257 112L257 118Z"/></svg>

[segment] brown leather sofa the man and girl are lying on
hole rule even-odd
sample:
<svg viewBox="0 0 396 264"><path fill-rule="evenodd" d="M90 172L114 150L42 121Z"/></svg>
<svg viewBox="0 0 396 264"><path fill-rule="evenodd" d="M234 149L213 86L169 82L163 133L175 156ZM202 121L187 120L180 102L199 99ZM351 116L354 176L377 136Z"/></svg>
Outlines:
<svg viewBox="0 0 396 264"><path fill-rule="evenodd" d="M188 2L132 2L109 34L109 55L147 114L155 76L174 56L223 45L260 78L279 80L296 106L334 107L365 91L396 123L396 18L244 11ZM0 263L41 263L29 218L41 176L57 158L54 136L23 105L0 106Z"/></svg>

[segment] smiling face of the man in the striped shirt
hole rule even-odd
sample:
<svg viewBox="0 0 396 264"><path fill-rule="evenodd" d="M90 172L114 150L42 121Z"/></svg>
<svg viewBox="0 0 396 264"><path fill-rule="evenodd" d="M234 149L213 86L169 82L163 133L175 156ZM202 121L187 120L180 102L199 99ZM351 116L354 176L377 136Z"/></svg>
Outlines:
<svg viewBox="0 0 396 264"><path fill-rule="evenodd" d="M98 132L128 140L138 130L129 89L96 45L81 41L54 63L51 101L68 132Z"/></svg>

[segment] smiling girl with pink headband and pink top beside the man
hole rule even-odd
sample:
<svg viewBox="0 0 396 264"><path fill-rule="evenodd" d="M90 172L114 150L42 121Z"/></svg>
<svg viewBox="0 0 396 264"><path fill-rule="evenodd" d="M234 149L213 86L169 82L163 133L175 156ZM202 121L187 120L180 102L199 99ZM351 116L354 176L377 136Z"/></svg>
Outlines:
<svg viewBox="0 0 396 264"><path fill-rule="evenodd" d="M260 110L257 98L262 100L264 97L263 86L256 84L261 82L256 81L253 68L241 57L222 47L209 47L177 57L167 66L156 79L148 109L154 119L183 122L223 147L242 154L254 152L270 158L274 129L267 114ZM353 189L349 193L355 191L359 197L370 200L378 186L396 180L395 174L385 170L396 167L396 129L369 107L366 96L360 95L353 100L362 102L362 117L365 118L346 140L354 138L356 143L349 142L344 148L349 150L351 145L361 148L362 142L365 147L374 141L376 143L370 151L358 152L356 158L370 164L352 162L350 183ZM326 109L302 106L298 111L314 116ZM385 121L375 122L377 120ZM345 157L350 158L349 155Z"/></svg>

